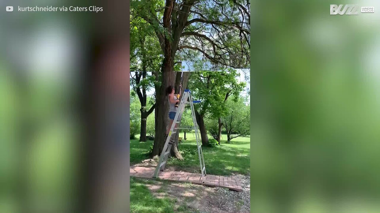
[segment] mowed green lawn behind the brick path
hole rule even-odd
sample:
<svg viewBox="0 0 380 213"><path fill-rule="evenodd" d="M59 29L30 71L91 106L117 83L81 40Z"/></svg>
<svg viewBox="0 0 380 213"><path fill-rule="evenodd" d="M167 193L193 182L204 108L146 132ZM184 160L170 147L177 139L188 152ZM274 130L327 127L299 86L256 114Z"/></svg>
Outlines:
<svg viewBox="0 0 380 213"><path fill-rule="evenodd" d="M187 140L183 139L184 133L180 133L182 144L179 149L184 160L170 158L166 167L174 167L176 170L200 173L198 152L193 133L187 133ZM137 137L138 138L138 137ZM209 138L212 138L209 136ZM231 175L249 174L250 172L250 137L237 137L231 143L226 143L226 135L222 135L221 144L218 147L202 147L204 163L207 174ZM224 139L224 140L223 140ZM139 163L148 158L150 146L153 141L139 142L138 139L131 140L130 162Z"/></svg>

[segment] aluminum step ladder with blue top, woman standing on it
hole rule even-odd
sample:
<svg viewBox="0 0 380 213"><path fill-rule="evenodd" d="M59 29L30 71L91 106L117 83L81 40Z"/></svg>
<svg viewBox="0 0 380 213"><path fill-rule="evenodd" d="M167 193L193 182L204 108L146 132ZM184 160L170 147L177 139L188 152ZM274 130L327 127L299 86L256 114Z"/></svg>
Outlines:
<svg viewBox="0 0 380 213"><path fill-rule="evenodd" d="M166 138L165 145L162 149L160 160L158 161L153 177L158 177L158 172L163 171L165 169L165 165L166 165L166 162L168 161L168 156L169 156L171 146L172 146L172 144L169 144L169 141L171 139L171 135L176 133L178 129L195 130L195 139L196 139L196 146L198 147L198 157L199 157L199 165L200 165L201 174L202 174L202 182L203 182L203 177L207 175L206 166L204 165L204 159L203 159L201 137L199 135L198 125L196 123L196 118L195 118L194 103L200 103L200 101L193 101L190 90L185 89L184 94L182 95L182 99L177 108L177 113L176 113L176 116L174 117L173 124L170 127L169 135ZM187 104L190 104L190 110L192 113L194 126L193 127L179 127L182 114L184 113L185 106Z"/></svg>

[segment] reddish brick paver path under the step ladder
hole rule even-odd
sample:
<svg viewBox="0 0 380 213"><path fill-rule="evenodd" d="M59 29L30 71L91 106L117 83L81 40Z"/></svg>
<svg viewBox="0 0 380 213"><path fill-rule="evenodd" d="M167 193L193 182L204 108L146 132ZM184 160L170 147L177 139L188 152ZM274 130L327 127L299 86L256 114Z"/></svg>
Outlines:
<svg viewBox="0 0 380 213"><path fill-rule="evenodd" d="M154 170L155 168L131 166L129 172L130 176L133 177L153 178ZM201 174L177 171L161 171L158 173L158 178L162 180L189 182L205 186L219 186L233 191L243 191L238 179L218 175L207 175L204 177L203 182L201 182L201 176Z"/></svg>

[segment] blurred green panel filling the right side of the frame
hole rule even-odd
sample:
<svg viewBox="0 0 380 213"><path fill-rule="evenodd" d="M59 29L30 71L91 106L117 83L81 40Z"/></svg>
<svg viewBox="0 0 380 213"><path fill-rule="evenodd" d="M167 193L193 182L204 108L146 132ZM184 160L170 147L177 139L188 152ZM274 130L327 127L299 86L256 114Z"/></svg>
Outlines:
<svg viewBox="0 0 380 213"><path fill-rule="evenodd" d="M252 212L380 212L380 2L251 2Z"/></svg>

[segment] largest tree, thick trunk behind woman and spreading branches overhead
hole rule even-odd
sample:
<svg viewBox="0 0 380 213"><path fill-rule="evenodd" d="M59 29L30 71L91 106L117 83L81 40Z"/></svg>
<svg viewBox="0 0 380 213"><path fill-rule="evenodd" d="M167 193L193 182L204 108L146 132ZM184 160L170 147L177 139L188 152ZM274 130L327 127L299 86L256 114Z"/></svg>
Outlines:
<svg viewBox="0 0 380 213"><path fill-rule="evenodd" d="M246 6L249 11L249 5ZM172 71L175 70L176 58L179 58L179 49L196 50L211 64L249 67L249 45L244 39L244 35L249 36L249 24L241 16L238 7L237 2L227 0L131 2L131 13L146 20L154 29L164 57L161 85L156 89L156 137L152 156L159 155L163 149L163 134L157 133L165 132L168 124L165 89L176 83L176 74ZM173 146L173 149L176 148L177 145Z"/></svg>

